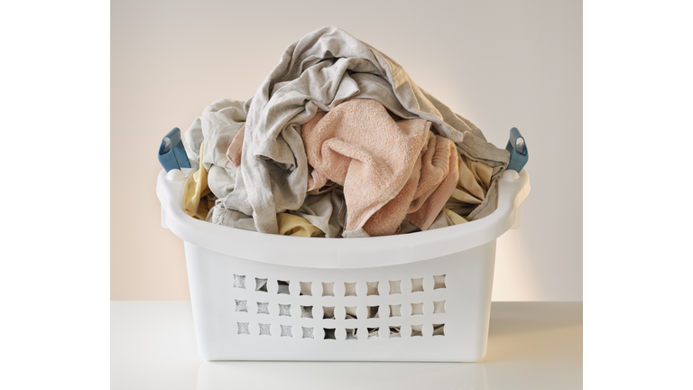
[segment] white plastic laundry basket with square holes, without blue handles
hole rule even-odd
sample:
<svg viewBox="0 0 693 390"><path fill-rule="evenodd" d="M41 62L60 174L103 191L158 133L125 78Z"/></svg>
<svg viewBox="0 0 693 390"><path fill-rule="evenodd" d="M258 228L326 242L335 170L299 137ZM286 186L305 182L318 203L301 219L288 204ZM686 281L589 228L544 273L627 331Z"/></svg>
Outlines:
<svg viewBox="0 0 693 390"><path fill-rule="evenodd" d="M185 241L199 353L208 360L481 359L495 239L530 191L527 172L507 171L488 217L399 236L308 238L191 218L182 184L162 171L156 193L162 225Z"/></svg>

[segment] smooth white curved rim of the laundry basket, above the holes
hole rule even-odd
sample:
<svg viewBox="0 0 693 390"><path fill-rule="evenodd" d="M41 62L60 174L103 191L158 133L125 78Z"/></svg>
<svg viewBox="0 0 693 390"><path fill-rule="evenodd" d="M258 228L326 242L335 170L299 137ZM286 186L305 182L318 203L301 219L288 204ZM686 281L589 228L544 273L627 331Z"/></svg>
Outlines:
<svg viewBox="0 0 693 390"><path fill-rule="evenodd" d="M333 269L403 265L484 245L513 226L515 213L530 192L527 171L505 171L498 179L497 207L485 218L406 235L336 239L263 234L189 217L181 207L183 182L168 180L162 170L156 194L162 204L162 224L186 243L262 263Z"/></svg>

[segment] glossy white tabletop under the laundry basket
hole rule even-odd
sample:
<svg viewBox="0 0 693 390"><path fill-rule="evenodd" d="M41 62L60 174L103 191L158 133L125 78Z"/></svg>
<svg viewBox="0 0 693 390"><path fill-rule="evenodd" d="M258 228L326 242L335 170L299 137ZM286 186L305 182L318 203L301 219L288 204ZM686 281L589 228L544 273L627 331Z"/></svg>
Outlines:
<svg viewBox="0 0 693 390"><path fill-rule="evenodd" d="M479 363L208 362L190 302L111 302L111 389L581 389L582 302L493 302Z"/></svg>

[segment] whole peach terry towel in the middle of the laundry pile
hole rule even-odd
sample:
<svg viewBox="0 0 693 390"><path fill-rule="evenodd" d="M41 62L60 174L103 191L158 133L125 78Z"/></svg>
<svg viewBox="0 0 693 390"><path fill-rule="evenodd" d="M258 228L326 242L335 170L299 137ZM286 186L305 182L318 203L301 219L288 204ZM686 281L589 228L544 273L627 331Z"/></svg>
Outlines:
<svg viewBox="0 0 693 390"><path fill-rule="evenodd" d="M313 167L308 187L328 180L344 186L345 230L392 235L408 213L429 228L457 183L455 144L433 135L429 121L393 117L376 100L352 99L321 112L301 133Z"/></svg>

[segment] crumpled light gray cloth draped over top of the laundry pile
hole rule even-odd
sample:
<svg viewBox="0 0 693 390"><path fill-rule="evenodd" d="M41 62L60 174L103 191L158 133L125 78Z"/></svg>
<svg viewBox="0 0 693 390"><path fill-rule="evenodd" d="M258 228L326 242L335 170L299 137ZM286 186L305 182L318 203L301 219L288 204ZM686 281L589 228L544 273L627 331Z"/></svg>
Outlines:
<svg viewBox="0 0 693 390"><path fill-rule="evenodd" d="M507 151L486 142L476 125L419 88L397 62L328 26L293 42L245 102L241 165L224 206L253 215L259 232L276 234L276 214L299 209L306 197L308 163L300 126L318 110L329 111L349 98L372 98L403 118L429 120L469 158L499 167L496 174L507 166Z"/></svg>

